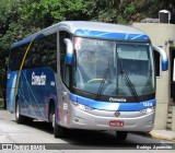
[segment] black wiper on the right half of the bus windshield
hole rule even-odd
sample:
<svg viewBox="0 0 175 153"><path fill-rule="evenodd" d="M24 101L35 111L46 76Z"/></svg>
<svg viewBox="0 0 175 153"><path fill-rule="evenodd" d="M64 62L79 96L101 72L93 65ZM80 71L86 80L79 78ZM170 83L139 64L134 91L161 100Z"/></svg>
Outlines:
<svg viewBox="0 0 175 153"><path fill-rule="evenodd" d="M125 76L125 79L126 79L126 81L127 81L126 84L128 85L130 93L133 95L135 99L136 99L137 102L139 102L139 96L138 96L138 94L137 94L137 91L136 91L132 82L130 81L130 79L129 79L129 76L128 76L128 73L127 73L125 70L122 70L121 62L120 62L120 72L121 72L121 74L124 74L124 76Z"/></svg>

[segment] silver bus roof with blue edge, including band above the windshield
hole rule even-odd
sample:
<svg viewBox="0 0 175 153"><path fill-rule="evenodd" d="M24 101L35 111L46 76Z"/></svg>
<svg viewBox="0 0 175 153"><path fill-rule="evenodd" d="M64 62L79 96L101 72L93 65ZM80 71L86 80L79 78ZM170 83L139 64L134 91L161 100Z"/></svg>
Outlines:
<svg viewBox="0 0 175 153"><path fill-rule="evenodd" d="M58 32L59 30L66 30L71 34L85 37L150 42L150 38L144 32L132 26L90 21L65 21L44 28L23 40L14 43L12 48L30 43L38 35L47 36Z"/></svg>

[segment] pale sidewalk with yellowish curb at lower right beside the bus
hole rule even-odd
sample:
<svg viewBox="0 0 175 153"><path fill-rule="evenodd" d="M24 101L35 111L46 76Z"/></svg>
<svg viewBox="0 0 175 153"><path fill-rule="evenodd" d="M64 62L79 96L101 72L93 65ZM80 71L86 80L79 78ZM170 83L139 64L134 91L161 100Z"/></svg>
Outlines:
<svg viewBox="0 0 175 153"><path fill-rule="evenodd" d="M151 137L162 140L168 140L175 142L175 131L167 130L152 130L150 132Z"/></svg>

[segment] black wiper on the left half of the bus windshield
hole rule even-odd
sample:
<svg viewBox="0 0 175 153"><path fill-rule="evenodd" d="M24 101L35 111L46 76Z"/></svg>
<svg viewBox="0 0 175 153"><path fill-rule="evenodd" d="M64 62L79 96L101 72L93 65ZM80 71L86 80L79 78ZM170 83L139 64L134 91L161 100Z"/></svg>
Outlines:
<svg viewBox="0 0 175 153"><path fill-rule="evenodd" d="M96 93L96 97L95 97L96 101L100 99L100 97L101 97L101 93L102 93L102 90L103 90L103 87L104 87L104 84L105 84L105 81L106 81L106 78L107 78L107 73L108 73L108 72L109 72L109 68L107 68L107 69L104 71L103 79L102 79L102 81L101 81L100 87L98 87L97 93Z"/></svg>

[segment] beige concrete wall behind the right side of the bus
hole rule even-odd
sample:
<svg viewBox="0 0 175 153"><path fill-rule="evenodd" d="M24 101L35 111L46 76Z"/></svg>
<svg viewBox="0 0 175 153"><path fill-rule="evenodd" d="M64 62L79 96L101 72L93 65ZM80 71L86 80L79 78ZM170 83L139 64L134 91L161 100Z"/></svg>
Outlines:
<svg viewBox="0 0 175 153"><path fill-rule="evenodd" d="M138 27L145 32L154 46L162 46L162 48L170 56L168 39L175 39L175 25L173 24L160 24L160 23L133 23L135 27ZM166 129L167 108L171 102L171 69L168 71L162 71L161 76L156 79L156 111L155 111L155 126L154 129Z"/></svg>

